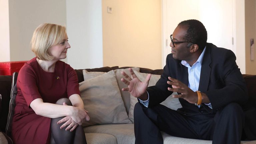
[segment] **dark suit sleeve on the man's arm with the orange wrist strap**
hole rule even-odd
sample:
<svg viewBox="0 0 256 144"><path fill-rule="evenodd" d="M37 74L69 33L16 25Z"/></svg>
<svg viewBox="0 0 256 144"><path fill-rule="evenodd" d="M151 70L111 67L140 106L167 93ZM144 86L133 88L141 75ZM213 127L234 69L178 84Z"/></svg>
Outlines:
<svg viewBox="0 0 256 144"><path fill-rule="evenodd" d="M235 54L228 50L220 53L215 59L219 59L219 62L212 65L211 82L208 91L204 92L208 96L213 110L232 102L245 103L248 99L247 87L235 62ZM218 78L213 75L218 75Z"/></svg>

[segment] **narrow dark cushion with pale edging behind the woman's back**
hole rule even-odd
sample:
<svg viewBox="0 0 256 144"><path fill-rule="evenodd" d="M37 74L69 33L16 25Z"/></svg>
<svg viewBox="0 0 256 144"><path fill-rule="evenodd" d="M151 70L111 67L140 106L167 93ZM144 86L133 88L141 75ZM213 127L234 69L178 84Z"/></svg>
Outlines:
<svg viewBox="0 0 256 144"><path fill-rule="evenodd" d="M14 108L15 108L15 99L17 95L17 77L18 72L14 72L12 74L12 89L11 89L11 99L9 104L9 113L7 118L6 124L6 134L11 137L11 130L12 130L12 118L14 115Z"/></svg>

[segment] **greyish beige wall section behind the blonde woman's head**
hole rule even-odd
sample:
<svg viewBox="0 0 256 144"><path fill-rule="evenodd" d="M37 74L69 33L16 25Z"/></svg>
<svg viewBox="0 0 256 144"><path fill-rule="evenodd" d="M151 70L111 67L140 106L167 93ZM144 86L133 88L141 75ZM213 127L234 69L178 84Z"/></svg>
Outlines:
<svg viewBox="0 0 256 144"><path fill-rule="evenodd" d="M34 57L29 43L41 23L66 25L66 1L9 0L10 61Z"/></svg>

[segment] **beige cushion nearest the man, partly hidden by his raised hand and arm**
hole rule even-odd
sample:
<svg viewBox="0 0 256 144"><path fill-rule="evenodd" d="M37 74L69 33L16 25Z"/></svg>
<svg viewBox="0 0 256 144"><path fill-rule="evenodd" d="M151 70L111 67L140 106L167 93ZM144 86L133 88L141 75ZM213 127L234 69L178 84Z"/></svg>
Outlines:
<svg viewBox="0 0 256 144"><path fill-rule="evenodd" d="M136 74L136 76L141 80L141 81L145 81L146 76L148 74L146 73L140 73L140 72L134 72ZM149 84L148 86L154 86L156 85L156 82L160 79L160 75L151 75L151 78L149 80ZM174 92L173 94L177 94L176 92ZM172 95L173 95L172 94ZM137 98L135 98L134 96L130 95L130 110L129 110L129 119L134 122L134 118L133 118L133 111L134 111L134 106L135 104L138 102ZM177 110L178 108L181 108L181 104L179 102L179 99L175 99L172 96L169 96L165 101L163 101L161 103L162 105L165 105L166 107L173 109L173 110Z"/></svg>

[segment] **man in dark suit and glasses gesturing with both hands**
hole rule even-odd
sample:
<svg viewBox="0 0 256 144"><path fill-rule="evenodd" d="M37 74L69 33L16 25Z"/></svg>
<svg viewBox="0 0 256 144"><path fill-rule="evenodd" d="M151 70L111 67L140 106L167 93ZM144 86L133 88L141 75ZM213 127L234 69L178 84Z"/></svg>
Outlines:
<svg viewBox="0 0 256 144"><path fill-rule="evenodd" d="M240 144L248 99L245 81L231 50L207 43L207 31L198 20L178 24L171 35L172 53L161 78L148 87L124 72L123 88L138 98L134 108L136 144L162 144L160 131L177 137L212 140L213 144ZM160 105L173 92L182 108Z"/></svg>

